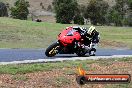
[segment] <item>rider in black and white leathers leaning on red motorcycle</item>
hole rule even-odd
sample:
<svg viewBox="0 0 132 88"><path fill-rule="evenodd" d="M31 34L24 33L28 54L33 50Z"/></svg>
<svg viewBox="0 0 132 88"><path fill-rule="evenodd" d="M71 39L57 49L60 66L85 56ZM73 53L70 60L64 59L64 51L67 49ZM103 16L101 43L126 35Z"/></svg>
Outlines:
<svg viewBox="0 0 132 88"><path fill-rule="evenodd" d="M99 43L100 35L99 32L95 29L94 26L90 26L89 29L85 27L75 26L73 29L76 29L80 32L84 39L83 47L87 52L90 51L91 56L95 56L97 44Z"/></svg>

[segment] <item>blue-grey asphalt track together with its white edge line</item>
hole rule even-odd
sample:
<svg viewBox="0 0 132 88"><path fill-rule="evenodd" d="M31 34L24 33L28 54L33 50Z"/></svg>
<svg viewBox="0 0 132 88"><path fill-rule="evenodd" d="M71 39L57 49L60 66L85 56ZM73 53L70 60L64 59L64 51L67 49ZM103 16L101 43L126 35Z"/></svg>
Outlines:
<svg viewBox="0 0 132 88"><path fill-rule="evenodd" d="M76 54L61 54L46 57L45 49L0 49L0 64L33 63L76 59L98 59L114 57L132 57L130 49L97 49L96 56L78 57Z"/></svg>

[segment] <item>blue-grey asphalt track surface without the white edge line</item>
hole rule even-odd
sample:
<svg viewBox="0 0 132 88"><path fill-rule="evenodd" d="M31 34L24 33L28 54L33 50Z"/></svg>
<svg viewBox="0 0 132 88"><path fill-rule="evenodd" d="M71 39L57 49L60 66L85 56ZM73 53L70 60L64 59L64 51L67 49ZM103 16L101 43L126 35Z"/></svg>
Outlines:
<svg viewBox="0 0 132 88"><path fill-rule="evenodd" d="M132 50L129 49L97 49L95 57L99 56L120 56L132 55ZM24 61L24 60L37 60L49 59L56 60L57 58L80 58L76 54L61 54L52 58L45 56L44 49L0 49L0 62Z"/></svg>

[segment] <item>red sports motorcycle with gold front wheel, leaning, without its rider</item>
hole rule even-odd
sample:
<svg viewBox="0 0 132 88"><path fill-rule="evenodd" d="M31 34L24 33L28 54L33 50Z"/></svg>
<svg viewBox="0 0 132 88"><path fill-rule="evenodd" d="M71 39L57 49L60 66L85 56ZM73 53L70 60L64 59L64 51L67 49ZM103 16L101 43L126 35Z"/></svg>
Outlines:
<svg viewBox="0 0 132 88"><path fill-rule="evenodd" d="M79 29L68 27L58 35L58 41L46 49L45 55L53 57L56 54L76 53L78 56L90 54L91 50L88 51L82 46L84 43L84 37L80 34Z"/></svg>

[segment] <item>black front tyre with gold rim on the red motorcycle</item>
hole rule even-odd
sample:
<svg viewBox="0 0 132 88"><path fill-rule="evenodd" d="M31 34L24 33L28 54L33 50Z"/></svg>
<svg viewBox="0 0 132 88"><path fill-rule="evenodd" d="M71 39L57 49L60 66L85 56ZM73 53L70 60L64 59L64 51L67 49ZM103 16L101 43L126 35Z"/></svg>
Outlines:
<svg viewBox="0 0 132 88"><path fill-rule="evenodd" d="M52 45L50 45L46 51L45 51L45 55L47 57L53 57L58 53L58 49L59 49L59 43L55 42Z"/></svg>

